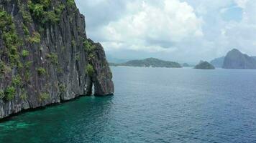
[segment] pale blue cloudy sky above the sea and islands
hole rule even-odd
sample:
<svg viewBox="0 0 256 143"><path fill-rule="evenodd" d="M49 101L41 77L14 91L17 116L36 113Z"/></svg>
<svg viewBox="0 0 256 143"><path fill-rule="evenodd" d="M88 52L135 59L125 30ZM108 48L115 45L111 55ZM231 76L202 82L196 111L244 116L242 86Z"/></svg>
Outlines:
<svg viewBox="0 0 256 143"><path fill-rule="evenodd" d="M256 56L255 0L76 0L86 34L116 59L196 63Z"/></svg>

